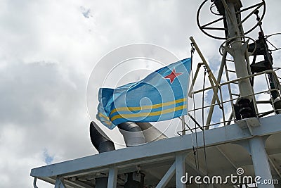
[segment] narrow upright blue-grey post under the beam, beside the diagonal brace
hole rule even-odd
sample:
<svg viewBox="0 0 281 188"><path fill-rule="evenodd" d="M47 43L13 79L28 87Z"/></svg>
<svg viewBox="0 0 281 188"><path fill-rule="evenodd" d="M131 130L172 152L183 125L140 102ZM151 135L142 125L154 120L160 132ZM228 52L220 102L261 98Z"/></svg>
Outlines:
<svg viewBox="0 0 281 188"><path fill-rule="evenodd" d="M176 154L176 187L185 188L185 184L181 182L181 177L185 175L185 154Z"/></svg>

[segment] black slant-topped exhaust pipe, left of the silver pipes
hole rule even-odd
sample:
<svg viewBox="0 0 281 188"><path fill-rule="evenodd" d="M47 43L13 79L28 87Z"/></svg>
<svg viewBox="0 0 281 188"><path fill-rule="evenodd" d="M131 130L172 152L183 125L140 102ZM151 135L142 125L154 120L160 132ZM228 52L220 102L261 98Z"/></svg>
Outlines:
<svg viewBox="0 0 281 188"><path fill-rule="evenodd" d="M115 145L95 122L90 123L90 138L98 153L115 150ZM96 188L107 188L108 177L96 178Z"/></svg>

